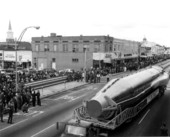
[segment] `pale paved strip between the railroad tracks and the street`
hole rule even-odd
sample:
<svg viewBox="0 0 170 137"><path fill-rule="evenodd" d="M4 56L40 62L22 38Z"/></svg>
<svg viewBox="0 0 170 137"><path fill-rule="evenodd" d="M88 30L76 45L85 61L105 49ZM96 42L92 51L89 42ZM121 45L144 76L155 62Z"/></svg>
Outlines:
<svg viewBox="0 0 170 137"><path fill-rule="evenodd" d="M43 89L39 89L40 94L41 94L41 98L46 98L48 96L63 92L63 91L67 91L69 89L73 89L76 87L80 87L83 85L86 85L88 83L85 82L77 82L77 81L72 81L72 82L66 82L66 83L62 83L59 85L55 85L55 86L51 86L51 87L47 87L47 88L43 88Z"/></svg>

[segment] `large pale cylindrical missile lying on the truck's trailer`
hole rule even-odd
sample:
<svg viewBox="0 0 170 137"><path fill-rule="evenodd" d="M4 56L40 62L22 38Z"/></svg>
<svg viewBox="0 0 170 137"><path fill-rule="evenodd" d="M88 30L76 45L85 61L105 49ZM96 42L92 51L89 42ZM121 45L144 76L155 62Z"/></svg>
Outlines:
<svg viewBox="0 0 170 137"><path fill-rule="evenodd" d="M159 66L113 79L87 102L87 113L93 118L111 119L118 111L139 103L156 88L166 86L168 80L168 73Z"/></svg>

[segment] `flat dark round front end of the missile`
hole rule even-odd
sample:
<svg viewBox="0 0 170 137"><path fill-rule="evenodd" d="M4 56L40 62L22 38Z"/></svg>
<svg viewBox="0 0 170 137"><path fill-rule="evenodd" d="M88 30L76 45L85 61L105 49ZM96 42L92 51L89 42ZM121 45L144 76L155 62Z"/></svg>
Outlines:
<svg viewBox="0 0 170 137"><path fill-rule="evenodd" d="M87 103L87 113L94 118L99 117L102 114L102 106L96 100L90 100Z"/></svg>

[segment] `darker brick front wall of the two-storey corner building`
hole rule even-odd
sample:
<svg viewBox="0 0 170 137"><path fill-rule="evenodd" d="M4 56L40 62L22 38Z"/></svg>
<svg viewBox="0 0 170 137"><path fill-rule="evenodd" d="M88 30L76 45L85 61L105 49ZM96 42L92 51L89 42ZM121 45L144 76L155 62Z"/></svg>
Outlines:
<svg viewBox="0 0 170 137"><path fill-rule="evenodd" d="M93 67L93 53L112 50L110 36L33 37L33 67L80 70ZM85 63L86 61L86 63Z"/></svg>

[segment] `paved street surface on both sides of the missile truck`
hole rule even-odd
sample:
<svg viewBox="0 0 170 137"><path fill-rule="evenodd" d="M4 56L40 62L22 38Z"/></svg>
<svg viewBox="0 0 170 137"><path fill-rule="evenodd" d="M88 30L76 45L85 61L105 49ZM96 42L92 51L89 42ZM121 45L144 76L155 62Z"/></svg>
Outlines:
<svg viewBox="0 0 170 137"><path fill-rule="evenodd" d="M105 79L102 81L100 84L87 85L80 82L80 87L65 92L60 92L59 89L69 89L69 86L70 88L76 87L76 83L60 85L60 88L54 86L43 89L42 94L45 98L42 100L42 106L31 107L29 113L18 112L14 114L14 124L12 125L6 123L7 115L4 116L5 122L0 123L0 137L57 137L55 123L70 119L74 108L79 106L83 100L91 98L104 86ZM58 94L48 97L45 95L47 93L54 94L55 89L55 93L59 92ZM123 124L116 129L113 136L159 136L162 122L167 123L170 132L169 108L170 83L163 97L155 99L130 123Z"/></svg>

